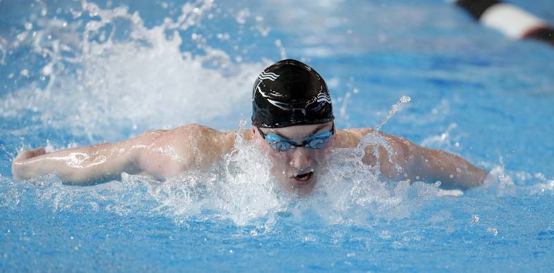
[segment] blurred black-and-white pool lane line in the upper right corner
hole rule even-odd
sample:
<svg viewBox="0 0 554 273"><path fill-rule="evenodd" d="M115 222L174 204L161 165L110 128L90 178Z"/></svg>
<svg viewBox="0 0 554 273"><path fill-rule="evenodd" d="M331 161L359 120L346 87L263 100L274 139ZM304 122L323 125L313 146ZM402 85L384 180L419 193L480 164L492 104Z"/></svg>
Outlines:
<svg viewBox="0 0 554 273"><path fill-rule="evenodd" d="M454 2L483 25L499 30L512 39L536 39L554 46L554 28L517 6L499 0Z"/></svg>

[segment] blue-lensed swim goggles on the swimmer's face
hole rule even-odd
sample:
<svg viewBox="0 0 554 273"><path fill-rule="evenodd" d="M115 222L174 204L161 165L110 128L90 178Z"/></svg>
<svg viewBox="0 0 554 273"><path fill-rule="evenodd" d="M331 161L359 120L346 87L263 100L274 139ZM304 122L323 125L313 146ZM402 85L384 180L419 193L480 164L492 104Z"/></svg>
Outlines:
<svg viewBox="0 0 554 273"><path fill-rule="evenodd" d="M262 135L262 138L265 139L267 144L269 144L271 148L277 151L288 151L292 147L308 147L310 149L322 149L329 143L331 136L334 134L334 124L329 131L316 133L315 135L310 135L310 137L306 138L301 144L287 140L286 138L283 138L282 136L276 135L274 133L269 133L266 135L264 132L260 130L260 127L258 127L258 132L260 132L260 135Z"/></svg>

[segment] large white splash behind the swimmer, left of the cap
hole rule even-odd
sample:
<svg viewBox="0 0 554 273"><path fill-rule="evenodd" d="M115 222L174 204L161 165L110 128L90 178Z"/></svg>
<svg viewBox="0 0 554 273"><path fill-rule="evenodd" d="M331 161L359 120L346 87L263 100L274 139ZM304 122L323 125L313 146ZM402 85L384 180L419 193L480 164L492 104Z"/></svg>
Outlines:
<svg viewBox="0 0 554 273"><path fill-rule="evenodd" d="M31 111L42 123L37 126L102 140L240 117L265 64L231 62L224 51L180 34L200 25L212 3L187 3L177 19L152 28L137 12L87 1L75 15L78 20L37 19L19 43L31 44L33 53L48 60L40 69L42 82L8 93L0 100L0 115L14 118ZM204 53L182 52L191 44Z"/></svg>

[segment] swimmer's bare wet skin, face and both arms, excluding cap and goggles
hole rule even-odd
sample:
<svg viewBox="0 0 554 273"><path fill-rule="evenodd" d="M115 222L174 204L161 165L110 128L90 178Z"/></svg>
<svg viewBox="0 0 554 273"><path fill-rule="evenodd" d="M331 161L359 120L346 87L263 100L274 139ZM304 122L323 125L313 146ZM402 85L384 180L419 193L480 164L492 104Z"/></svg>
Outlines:
<svg viewBox="0 0 554 273"><path fill-rule="evenodd" d="M331 129L332 122L314 125L289 126L279 129L261 129L277 133L296 143L310 135ZM244 130L244 140L253 141L271 158L272 173L285 189L298 194L310 192L325 167L330 149L353 148L372 129L335 130L323 149L296 147L276 151L252 128ZM365 164L379 164L381 175L391 179L412 181L440 180L446 187L466 189L481 185L487 172L470 164L460 156L445 151L420 147L404 138L381 134L391 145L388 158L384 147L380 155L368 145L362 159ZM39 148L22 151L12 163L12 174L17 180L55 172L66 181L75 183L100 182L120 179L123 172L165 180L188 170L208 170L222 155L233 149L235 131L222 132L198 124L188 124L171 130L148 131L136 138L117 143L98 144L46 153ZM402 169L396 168L400 166Z"/></svg>

